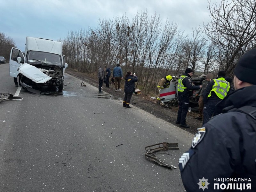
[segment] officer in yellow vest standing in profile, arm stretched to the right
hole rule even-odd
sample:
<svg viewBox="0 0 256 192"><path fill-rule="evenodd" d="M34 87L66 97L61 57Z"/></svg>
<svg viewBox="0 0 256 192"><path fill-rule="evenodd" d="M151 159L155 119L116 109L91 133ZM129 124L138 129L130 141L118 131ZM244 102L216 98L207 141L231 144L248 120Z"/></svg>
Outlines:
<svg viewBox="0 0 256 192"><path fill-rule="evenodd" d="M191 81L191 76L193 75L193 70L187 68L185 73L178 79L178 96L179 96L179 111L177 116L176 124L180 124L180 127L189 128L186 124L186 116L189 108L189 96L192 96L193 92L191 90L200 89L202 85L193 86Z"/></svg>

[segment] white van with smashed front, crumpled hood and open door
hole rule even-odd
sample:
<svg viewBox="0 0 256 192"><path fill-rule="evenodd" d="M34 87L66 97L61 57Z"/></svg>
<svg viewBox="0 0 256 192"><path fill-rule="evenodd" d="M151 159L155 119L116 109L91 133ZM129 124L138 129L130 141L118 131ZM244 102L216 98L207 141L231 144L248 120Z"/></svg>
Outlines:
<svg viewBox="0 0 256 192"><path fill-rule="evenodd" d="M20 73L22 88L31 92L40 93L42 86L54 86L62 91L67 68L61 42L27 37L25 56L20 49L11 50L10 76L17 77Z"/></svg>

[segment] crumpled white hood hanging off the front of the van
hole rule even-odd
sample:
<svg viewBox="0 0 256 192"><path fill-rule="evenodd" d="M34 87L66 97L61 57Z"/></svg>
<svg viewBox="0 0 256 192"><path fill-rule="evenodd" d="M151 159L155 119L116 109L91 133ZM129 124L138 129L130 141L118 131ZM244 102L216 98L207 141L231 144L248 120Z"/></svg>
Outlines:
<svg viewBox="0 0 256 192"><path fill-rule="evenodd" d="M33 65L29 65L28 63L24 63L24 64L20 65L20 67L18 68L18 71L22 75L24 75L24 76L28 77L29 79L31 79L32 81L34 81L35 83L46 83L47 81L52 79L52 77L45 75L38 68L36 68Z"/></svg>

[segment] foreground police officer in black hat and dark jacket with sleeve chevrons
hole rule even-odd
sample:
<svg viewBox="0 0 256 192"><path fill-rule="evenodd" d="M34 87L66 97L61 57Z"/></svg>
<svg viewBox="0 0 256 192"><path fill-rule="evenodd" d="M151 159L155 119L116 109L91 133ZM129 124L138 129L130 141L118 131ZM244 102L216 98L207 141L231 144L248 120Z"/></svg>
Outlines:
<svg viewBox="0 0 256 192"><path fill-rule="evenodd" d="M256 48L242 55L234 69L236 91L217 104L222 114L198 129L180 157L187 192L256 191L255 63Z"/></svg>

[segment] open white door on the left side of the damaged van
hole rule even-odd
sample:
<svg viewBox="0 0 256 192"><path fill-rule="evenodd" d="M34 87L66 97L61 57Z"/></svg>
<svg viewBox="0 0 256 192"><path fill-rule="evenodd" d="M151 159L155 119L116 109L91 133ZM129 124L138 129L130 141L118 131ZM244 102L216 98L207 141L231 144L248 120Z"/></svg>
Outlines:
<svg viewBox="0 0 256 192"><path fill-rule="evenodd" d="M20 57L21 61L18 61L17 58ZM23 55L20 49L12 47L11 54L10 54L10 76L17 77L19 74L18 68L22 63L25 61L25 56Z"/></svg>

